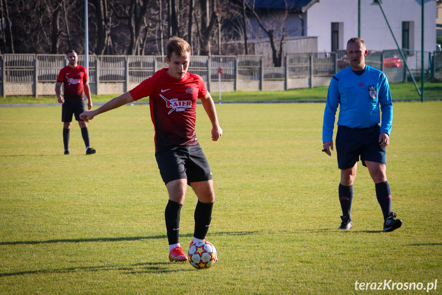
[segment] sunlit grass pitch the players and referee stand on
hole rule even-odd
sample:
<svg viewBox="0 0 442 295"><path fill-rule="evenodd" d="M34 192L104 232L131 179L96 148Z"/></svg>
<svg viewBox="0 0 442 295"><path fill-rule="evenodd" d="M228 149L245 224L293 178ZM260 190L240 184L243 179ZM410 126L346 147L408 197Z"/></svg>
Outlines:
<svg viewBox="0 0 442 295"><path fill-rule="evenodd" d="M94 119L88 156L78 125L62 154L59 106L0 108L0 294L424 294L435 280L428 293L441 294L442 102L394 104L387 175L404 224L390 233L362 165L353 229L338 230L340 172L335 152L321 153L323 110L217 105L224 133L212 142L198 105L217 194L207 240L219 254L198 271L167 259L149 106ZM188 191L185 247L195 204ZM395 289L355 290L389 280Z"/></svg>

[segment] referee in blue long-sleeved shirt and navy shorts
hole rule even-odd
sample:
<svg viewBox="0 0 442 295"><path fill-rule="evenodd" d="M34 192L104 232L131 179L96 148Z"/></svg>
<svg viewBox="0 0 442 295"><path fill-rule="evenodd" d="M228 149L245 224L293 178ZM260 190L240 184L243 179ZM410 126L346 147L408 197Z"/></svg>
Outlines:
<svg viewBox="0 0 442 295"><path fill-rule="evenodd" d="M365 64L367 53L362 38L351 38L347 42L345 54L350 67L336 73L328 88L322 127L323 151L331 155L333 150L333 127L339 106L336 134L336 154L341 169L342 223L339 228L352 227L353 182L361 158L375 184L377 201L384 215L384 231L393 231L402 225L391 211L391 191L386 175L386 147L390 140L393 104L387 77Z"/></svg>

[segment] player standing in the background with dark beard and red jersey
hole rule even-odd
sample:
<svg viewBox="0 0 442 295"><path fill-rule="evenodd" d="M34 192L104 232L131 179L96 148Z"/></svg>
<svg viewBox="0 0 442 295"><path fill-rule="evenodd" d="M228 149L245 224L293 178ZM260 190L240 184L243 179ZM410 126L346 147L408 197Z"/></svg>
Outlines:
<svg viewBox="0 0 442 295"><path fill-rule="evenodd" d="M88 123L80 119L80 113L85 109L85 94L88 99L88 109L92 108L91 90L88 83L88 72L86 68L77 65L78 55L75 50L68 52L69 65L62 68L58 73L57 83L55 84L55 94L57 94L58 103L61 107L61 121L63 122L63 143L65 145L65 154L69 152L69 134L72 127L72 115L75 114L75 120L81 129L81 136L86 145L86 154L95 153L95 149L89 145ZM61 96L61 84L64 85L64 96Z"/></svg>

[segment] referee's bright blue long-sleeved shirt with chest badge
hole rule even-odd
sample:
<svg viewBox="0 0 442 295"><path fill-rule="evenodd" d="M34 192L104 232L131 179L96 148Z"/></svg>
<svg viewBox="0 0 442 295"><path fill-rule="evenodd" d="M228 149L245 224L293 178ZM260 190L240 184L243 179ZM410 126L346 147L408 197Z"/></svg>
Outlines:
<svg viewBox="0 0 442 295"><path fill-rule="evenodd" d="M390 86L382 71L366 66L364 73L359 76L348 67L332 77L324 110L323 143L333 140L338 106L338 125L366 128L381 122L381 132L390 134L393 104Z"/></svg>

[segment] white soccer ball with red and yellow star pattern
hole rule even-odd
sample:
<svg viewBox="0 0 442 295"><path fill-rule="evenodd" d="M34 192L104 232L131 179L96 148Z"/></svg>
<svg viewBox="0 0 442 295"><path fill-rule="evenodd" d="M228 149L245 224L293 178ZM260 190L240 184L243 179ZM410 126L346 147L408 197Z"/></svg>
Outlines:
<svg viewBox="0 0 442 295"><path fill-rule="evenodd" d="M192 242L187 257L196 269L212 267L218 260L215 246L207 241Z"/></svg>

